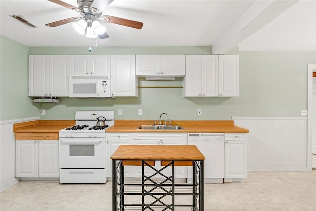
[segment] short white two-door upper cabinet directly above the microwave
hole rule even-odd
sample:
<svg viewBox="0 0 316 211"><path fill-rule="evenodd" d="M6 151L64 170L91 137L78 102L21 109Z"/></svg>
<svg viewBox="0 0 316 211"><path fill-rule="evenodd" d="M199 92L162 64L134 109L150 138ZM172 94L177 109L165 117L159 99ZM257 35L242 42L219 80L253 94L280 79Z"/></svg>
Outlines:
<svg viewBox="0 0 316 211"><path fill-rule="evenodd" d="M110 55L71 55L70 75L111 75Z"/></svg>

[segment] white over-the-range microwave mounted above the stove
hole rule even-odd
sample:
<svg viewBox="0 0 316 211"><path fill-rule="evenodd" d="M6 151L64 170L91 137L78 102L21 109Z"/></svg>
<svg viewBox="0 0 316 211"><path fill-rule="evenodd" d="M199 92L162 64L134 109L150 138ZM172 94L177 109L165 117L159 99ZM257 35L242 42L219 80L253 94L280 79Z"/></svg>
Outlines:
<svg viewBox="0 0 316 211"><path fill-rule="evenodd" d="M111 97L110 76L69 76L69 97L108 98Z"/></svg>

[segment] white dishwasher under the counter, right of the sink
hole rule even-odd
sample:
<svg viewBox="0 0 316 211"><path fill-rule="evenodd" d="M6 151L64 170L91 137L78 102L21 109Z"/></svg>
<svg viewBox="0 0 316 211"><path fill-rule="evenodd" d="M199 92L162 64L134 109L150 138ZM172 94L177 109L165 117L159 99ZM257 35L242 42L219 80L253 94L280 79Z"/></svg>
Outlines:
<svg viewBox="0 0 316 211"><path fill-rule="evenodd" d="M224 133L189 133L188 145L196 145L205 156L205 183L223 183ZM192 167L188 169L188 182L192 182Z"/></svg>

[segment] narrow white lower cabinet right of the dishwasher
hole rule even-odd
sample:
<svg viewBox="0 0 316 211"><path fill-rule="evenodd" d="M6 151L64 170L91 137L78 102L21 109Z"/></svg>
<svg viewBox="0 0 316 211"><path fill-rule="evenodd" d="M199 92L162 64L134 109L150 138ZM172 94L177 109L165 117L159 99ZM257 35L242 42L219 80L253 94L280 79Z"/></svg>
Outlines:
<svg viewBox="0 0 316 211"><path fill-rule="evenodd" d="M245 182L247 178L247 146L245 133L225 134L224 182Z"/></svg>

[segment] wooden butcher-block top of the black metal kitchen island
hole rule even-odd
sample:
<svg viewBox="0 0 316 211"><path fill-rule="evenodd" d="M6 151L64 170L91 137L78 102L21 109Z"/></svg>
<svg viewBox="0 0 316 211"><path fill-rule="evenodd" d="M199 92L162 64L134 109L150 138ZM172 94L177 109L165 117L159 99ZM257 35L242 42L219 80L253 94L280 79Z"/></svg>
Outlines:
<svg viewBox="0 0 316 211"><path fill-rule="evenodd" d="M120 145L112 154L116 160L205 160L194 145Z"/></svg>

